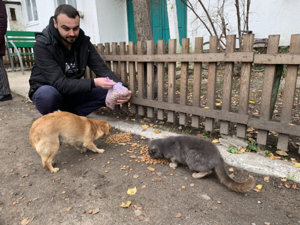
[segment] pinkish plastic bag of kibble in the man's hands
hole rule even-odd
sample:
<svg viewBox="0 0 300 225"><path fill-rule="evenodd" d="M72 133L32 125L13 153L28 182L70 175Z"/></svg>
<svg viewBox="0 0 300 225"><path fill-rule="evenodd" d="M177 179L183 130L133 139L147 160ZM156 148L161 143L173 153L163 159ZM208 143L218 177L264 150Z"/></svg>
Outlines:
<svg viewBox="0 0 300 225"><path fill-rule="evenodd" d="M110 81L108 77L105 77L105 81L106 82L113 82ZM120 99L120 97L126 97L128 96L129 91L126 87L124 87L122 85L121 82L117 82L116 84L114 84L107 92L106 98L105 98L105 103L106 106L114 109L114 106L116 105L118 99Z"/></svg>

